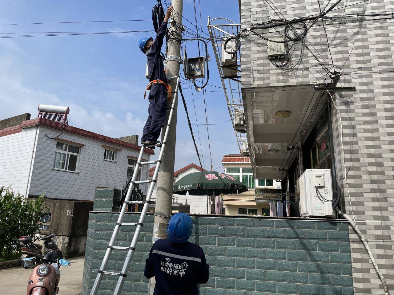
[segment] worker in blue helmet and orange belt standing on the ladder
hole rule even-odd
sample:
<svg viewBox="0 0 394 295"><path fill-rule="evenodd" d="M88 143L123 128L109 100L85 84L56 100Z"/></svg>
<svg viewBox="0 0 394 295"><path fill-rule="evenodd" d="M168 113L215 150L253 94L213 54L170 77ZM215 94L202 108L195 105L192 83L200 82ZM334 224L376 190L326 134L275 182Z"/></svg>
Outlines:
<svg viewBox="0 0 394 295"><path fill-rule="evenodd" d="M163 45L165 32L167 31L168 19L170 18L173 10L174 6L168 7L164 20L157 30L157 35L154 41L152 37L144 37L138 43L139 49L147 56L148 75L150 81L147 87L147 90L150 90L148 108L149 116L143 129L141 144L151 146L152 149L154 149L154 146L152 145L158 143L157 139L160 136L160 129L164 124L165 112L167 109L167 98L171 98L171 87L167 84L167 77L165 76L160 50Z"/></svg>

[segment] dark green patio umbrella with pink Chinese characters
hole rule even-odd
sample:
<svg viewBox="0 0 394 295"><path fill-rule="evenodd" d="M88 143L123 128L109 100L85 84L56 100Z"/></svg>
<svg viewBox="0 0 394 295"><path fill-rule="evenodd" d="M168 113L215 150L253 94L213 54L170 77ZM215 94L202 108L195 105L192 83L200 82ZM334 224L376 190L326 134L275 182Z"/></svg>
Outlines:
<svg viewBox="0 0 394 295"><path fill-rule="evenodd" d="M174 194L220 195L240 194L248 189L234 177L216 171L193 172L185 175L174 184Z"/></svg>

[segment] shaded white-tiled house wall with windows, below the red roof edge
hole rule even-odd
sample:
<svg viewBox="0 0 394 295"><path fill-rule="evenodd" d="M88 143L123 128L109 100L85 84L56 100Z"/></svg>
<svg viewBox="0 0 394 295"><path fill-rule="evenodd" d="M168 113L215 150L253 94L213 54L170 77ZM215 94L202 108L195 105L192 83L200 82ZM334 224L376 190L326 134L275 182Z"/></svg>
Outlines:
<svg viewBox="0 0 394 295"><path fill-rule="evenodd" d="M87 138L72 133L63 133L59 130L40 126L37 153L34 159L32 181L29 194L39 195L45 192L50 198L79 199L93 201L97 186L117 188L121 190L126 181L127 163L126 156L138 157L139 151L121 148L117 151L116 161L110 162L104 158L104 142ZM80 149L78 169L76 172L53 170L56 152L56 141L49 139L56 137L85 144ZM106 144L108 146L114 146ZM116 147L116 146L114 146ZM144 159L149 160L150 155L145 154ZM148 178L148 167L143 166L142 177ZM145 184L141 185L144 188ZM145 187L146 192L146 187Z"/></svg>

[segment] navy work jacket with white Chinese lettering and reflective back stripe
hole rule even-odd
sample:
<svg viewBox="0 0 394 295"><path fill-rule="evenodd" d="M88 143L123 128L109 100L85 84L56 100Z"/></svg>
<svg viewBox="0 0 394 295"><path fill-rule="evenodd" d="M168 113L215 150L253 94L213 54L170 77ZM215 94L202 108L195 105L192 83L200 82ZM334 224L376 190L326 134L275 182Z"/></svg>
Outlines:
<svg viewBox="0 0 394 295"><path fill-rule="evenodd" d="M160 239L152 246L144 275L156 279L153 295L198 295L197 284L208 282L208 269L200 246Z"/></svg>

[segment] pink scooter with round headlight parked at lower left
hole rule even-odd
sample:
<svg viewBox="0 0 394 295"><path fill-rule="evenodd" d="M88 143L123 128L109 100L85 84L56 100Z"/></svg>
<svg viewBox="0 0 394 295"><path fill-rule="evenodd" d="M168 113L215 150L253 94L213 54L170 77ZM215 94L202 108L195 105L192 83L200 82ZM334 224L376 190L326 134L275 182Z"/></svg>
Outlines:
<svg viewBox="0 0 394 295"><path fill-rule="evenodd" d="M48 234L40 238L44 241L45 247L52 247L48 248L42 258L36 256L23 259L25 268L31 267L32 260L39 259L42 262L33 269L30 275L26 295L56 295L59 292L60 266L69 266L71 263L63 259L63 253L52 240L54 236L55 234ZM71 247L67 249L67 252L70 249Z"/></svg>

